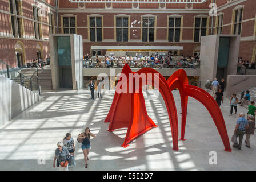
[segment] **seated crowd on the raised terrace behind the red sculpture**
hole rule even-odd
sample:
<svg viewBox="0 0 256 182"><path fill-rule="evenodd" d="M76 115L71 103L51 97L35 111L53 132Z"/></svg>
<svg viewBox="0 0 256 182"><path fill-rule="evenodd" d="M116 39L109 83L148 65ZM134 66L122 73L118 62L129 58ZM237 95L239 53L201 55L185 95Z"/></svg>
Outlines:
<svg viewBox="0 0 256 182"><path fill-rule="evenodd" d="M200 59L195 53L194 56L179 56L179 59L173 60L173 55L169 52L168 55L159 55L158 52L151 56L143 56L136 53L135 56L104 56L101 61L99 56L94 60L90 55L83 56L83 68L123 68L127 63L130 67L134 68L199 68Z"/></svg>

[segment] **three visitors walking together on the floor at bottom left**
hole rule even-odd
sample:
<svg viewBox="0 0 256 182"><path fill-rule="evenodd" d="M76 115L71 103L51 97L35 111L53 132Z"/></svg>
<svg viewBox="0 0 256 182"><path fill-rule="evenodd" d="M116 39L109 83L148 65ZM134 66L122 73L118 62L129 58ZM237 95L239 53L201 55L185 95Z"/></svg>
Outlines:
<svg viewBox="0 0 256 182"><path fill-rule="evenodd" d="M93 133L90 132L89 127L86 127L85 132L81 133L77 137L77 141L81 143L81 148L83 151L85 159L85 168L88 167L87 161L89 160L88 154L90 151L90 137L96 137ZM62 142L57 143L57 149L55 150L55 156L53 160L53 167L59 167L61 171L68 171L69 168L73 168L76 163L74 159L75 144L74 139L71 137L70 133L66 134L66 137Z"/></svg>

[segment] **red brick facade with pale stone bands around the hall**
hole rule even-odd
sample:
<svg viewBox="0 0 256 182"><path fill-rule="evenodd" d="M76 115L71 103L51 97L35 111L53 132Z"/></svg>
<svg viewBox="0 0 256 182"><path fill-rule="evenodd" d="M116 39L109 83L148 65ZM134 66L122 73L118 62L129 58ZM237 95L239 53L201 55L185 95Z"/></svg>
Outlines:
<svg viewBox="0 0 256 182"><path fill-rule="evenodd" d="M218 15L223 14L222 34L230 34L233 26L233 10L238 6L243 6L241 45L239 56L251 61L255 56L256 45L256 1L255 0L216 0ZM31 61L37 57L37 47L40 43L43 47L43 59L50 54L49 50L49 16L44 14L41 17L42 39L34 38L33 5L37 5L46 12L54 15L55 32L57 33L57 13L59 32L63 30L62 16L76 16L76 31L83 36L83 53L91 54L91 46L183 46L183 55L193 55L196 46L200 42L194 42L195 16L207 17L207 33L210 35L211 17L209 16L209 4L211 0L203 4L170 4L170 3L71 3L69 0L58 0L58 8L55 8L55 0L35 1L23 0L23 24L24 36L22 38L12 37L10 20L9 0L0 2L0 42L1 60L6 61L13 67L17 66L15 60L15 44L20 41L24 45L26 54L25 61ZM102 17L102 41L90 42L89 16ZM115 38L115 16L129 16L129 40L128 42L117 42ZM142 42L142 16L155 17L155 37L154 42ZM179 16L182 18L181 38L179 42L168 42L168 17ZM213 34L215 34L215 20L213 22ZM136 22L135 22L136 21ZM135 23L133 23L135 22ZM131 23L133 23L131 27ZM104 54L106 51L102 51Z"/></svg>

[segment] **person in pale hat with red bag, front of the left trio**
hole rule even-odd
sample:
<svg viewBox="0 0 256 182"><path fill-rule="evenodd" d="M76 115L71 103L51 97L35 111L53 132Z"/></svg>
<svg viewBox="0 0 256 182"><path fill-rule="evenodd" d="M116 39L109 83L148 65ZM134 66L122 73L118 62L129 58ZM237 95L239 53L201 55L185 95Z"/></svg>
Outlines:
<svg viewBox="0 0 256 182"><path fill-rule="evenodd" d="M59 167L60 171L68 171L67 158L70 156L69 151L66 147L63 146L62 142L57 143L58 148L55 150L55 156L53 160L53 167L55 168L55 161L57 159L57 167Z"/></svg>

